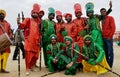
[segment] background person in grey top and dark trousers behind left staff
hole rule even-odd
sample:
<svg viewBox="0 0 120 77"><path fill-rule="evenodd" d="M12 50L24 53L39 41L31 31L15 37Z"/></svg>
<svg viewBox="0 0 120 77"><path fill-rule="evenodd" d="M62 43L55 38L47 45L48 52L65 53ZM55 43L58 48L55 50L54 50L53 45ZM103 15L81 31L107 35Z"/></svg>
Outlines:
<svg viewBox="0 0 120 77"><path fill-rule="evenodd" d="M23 35L23 31L21 29L17 29L15 32L15 51L13 54L13 60L17 60L17 55L18 55L18 51L20 51L19 49L21 49L22 51L22 57L23 59L25 58L25 51L24 51L24 45L23 45L23 41L24 41L24 35Z"/></svg>

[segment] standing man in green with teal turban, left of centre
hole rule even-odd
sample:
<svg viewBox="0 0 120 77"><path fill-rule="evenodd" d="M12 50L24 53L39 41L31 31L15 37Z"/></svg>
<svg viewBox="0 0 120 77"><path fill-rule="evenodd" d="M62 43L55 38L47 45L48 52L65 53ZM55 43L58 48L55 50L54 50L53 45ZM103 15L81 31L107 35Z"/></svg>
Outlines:
<svg viewBox="0 0 120 77"><path fill-rule="evenodd" d="M44 20L42 23L42 44L43 44L43 53L44 53L44 61L45 65L47 66L47 56L46 56L46 47L50 44L50 40L48 38L51 34L55 34L55 22L53 21L55 17L55 10L53 8L48 9L48 19Z"/></svg>

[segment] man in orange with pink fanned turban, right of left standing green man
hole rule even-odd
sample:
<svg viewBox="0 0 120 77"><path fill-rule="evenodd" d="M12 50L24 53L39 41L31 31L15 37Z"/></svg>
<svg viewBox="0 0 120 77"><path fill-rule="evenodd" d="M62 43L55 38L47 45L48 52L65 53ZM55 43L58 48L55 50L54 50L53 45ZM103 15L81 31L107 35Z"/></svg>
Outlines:
<svg viewBox="0 0 120 77"><path fill-rule="evenodd" d="M62 36L62 31L64 31L64 21L62 19L62 12L57 10L56 11L56 20L58 21L56 24L55 24L55 32L56 32L56 35L58 37L57 41L58 42L64 42L64 37Z"/></svg>

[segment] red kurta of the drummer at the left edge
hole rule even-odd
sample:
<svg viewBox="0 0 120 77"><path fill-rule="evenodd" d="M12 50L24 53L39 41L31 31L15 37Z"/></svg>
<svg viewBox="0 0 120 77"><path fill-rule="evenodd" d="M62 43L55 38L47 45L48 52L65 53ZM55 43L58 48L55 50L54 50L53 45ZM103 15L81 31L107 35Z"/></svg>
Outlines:
<svg viewBox="0 0 120 77"><path fill-rule="evenodd" d="M12 38L12 31L11 31L11 28L10 28L10 24L5 20L0 22L0 24L2 24L4 31L8 34L8 36L10 38ZM2 35L2 34L3 34L3 32L2 32L2 29L0 28L0 35ZM6 48L4 52L10 53L10 47Z"/></svg>

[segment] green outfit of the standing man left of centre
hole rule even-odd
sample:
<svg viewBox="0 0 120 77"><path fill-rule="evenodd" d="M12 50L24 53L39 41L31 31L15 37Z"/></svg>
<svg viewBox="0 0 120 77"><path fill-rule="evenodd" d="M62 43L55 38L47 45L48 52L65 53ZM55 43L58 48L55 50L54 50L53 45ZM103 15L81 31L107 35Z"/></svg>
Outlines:
<svg viewBox="0 0 120 77"><path fill-rule="evenodd" d="M42 23L41 31L43 33L42 35L42 44L43 44L43 52L44 52L44 61L45 65L47 65L47 56L46 56L46 47L48 44L50 44L49 37L52 34L55 34L55 29L54 29L55 22L50 21L49 19L44 20Z"/></svg>

